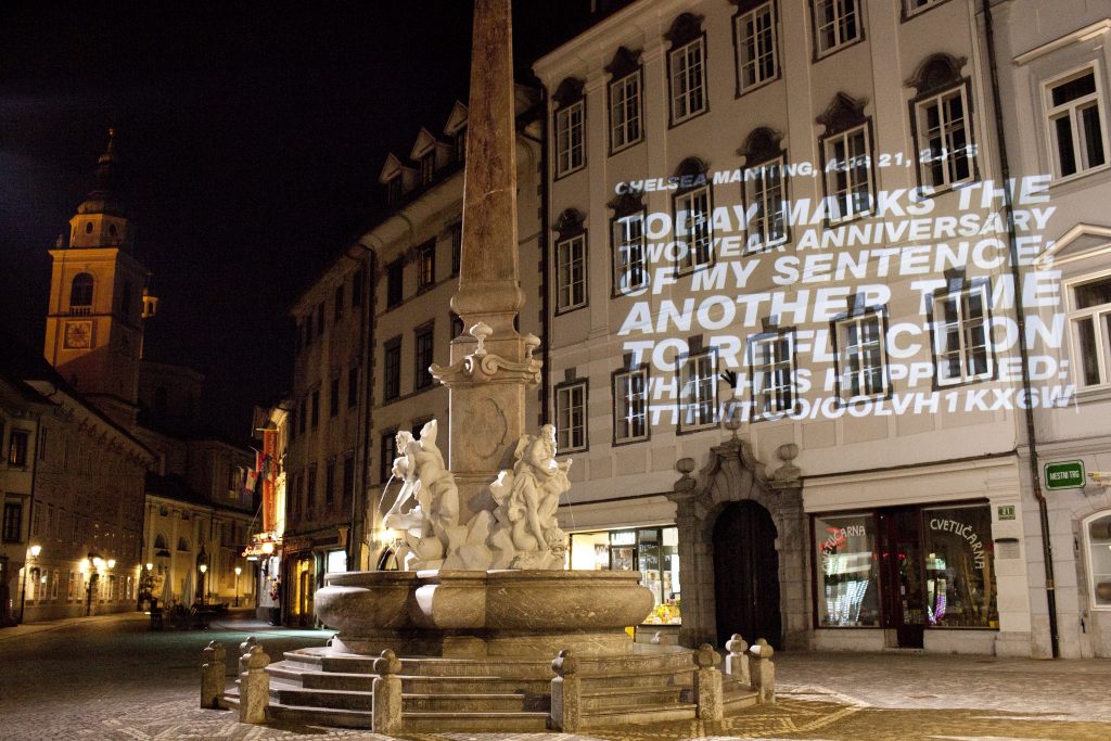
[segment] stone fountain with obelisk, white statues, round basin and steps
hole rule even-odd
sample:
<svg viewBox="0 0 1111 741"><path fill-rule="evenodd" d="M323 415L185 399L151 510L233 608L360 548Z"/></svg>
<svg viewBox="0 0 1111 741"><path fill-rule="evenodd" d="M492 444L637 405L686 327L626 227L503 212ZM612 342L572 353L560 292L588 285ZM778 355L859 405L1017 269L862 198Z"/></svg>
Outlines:
<svg viewBox="0 0 1111 741"><path fill-rule="evenodd" d="M401 533L406 570L326 575L316 611L338 632L267 667L270 718L378 732L720 718L709 647L640 644L627 633L653 604L639 573L564 570L556 510L571 463L556 459L552 425L524 429L540 340L513 327L523 296L510 4L476 2L452 299L471 330L452 341L449 366L431 368L450 389L450 470L437 421L419 438L398 433L401 490L383 524ZM727 704L755 701L748 685L725 693Z"/></svg>

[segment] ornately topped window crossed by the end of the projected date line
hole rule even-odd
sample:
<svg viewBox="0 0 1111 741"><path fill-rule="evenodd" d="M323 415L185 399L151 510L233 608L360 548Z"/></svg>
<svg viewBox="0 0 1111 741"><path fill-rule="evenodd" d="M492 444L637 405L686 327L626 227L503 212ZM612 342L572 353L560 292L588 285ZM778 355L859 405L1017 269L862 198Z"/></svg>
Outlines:
<svg viewBox="0 0 1111 741"><path fill-rule="evenodd" d="M914 103L919 174L923 186L944 190L972 180L968 87L960 84Z"/></svg>

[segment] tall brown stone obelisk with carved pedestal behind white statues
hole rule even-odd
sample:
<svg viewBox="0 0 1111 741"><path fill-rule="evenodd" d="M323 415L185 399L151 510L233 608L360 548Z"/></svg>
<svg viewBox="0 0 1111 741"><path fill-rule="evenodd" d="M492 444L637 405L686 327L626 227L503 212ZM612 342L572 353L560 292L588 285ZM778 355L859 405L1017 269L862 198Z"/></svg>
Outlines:
<svg viewBox="0 0 1111 741"><path fill-rule="evenodd" d="M511 0L476 0L463 180L463 242L452 309L470 336L451 343L451 364L432 373L450 389L449 467L460 521L511 463L524 434L524 394L540 381L532 350L513 320L524 303L517 243L517 129Z"/></svg>

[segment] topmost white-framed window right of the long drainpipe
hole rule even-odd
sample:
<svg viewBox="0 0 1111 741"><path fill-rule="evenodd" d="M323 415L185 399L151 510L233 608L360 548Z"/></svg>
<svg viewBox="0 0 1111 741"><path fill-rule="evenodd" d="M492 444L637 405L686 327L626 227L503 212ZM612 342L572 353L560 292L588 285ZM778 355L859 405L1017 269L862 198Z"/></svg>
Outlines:
<svg viewBox="0 0 1111 741"><path fill-rule="evenodd" d="M1045 86L1053 174L1068 178L1107 164L1107 123L1095 68Z"/></svg>

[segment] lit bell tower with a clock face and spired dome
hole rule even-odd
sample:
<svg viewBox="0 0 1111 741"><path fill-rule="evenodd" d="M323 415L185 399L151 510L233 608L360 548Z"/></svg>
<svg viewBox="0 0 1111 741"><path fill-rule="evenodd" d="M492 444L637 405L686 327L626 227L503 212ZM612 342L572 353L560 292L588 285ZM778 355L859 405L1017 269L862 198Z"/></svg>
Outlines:
<svg viewBox="0 0 1111 741"><path fill-rule="evenodd" d="M134 226L118 191L114 131L96 184L50 250L53 267L43 354L102 412L136 424L142 322L153 314L150 273L134 252Z"/></svg>

